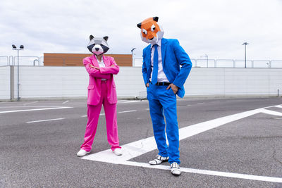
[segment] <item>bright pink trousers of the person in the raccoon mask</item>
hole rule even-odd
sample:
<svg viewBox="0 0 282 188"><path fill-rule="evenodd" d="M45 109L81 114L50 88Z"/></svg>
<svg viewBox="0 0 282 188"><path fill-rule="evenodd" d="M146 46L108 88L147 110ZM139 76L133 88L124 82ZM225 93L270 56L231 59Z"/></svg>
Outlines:
<svg viewBox="0 0 282 188"><path fill-rule="evenodd" d="M85 151L91 151L93 140L96 134L98 119L101 112L102 104L106 115L106 134L111 150L121 148L118 141L118 125L116 120L116 104L109 104L107 99L107 85L102 81L102 92L99 104L96 106L87 106L87 125L84 136L84 143L80 146Z"/></svg>

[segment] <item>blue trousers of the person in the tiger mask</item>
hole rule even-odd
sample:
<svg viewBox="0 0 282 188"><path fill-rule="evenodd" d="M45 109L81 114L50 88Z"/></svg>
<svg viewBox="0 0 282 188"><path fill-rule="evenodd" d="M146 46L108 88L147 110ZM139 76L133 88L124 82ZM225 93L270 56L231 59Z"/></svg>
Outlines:
<svg viewBox="0 0 282 188"><path fill-rule="evenodd" d="M159 155L169 157L169 163L180 163L179 131L176 111L176 94L168 86L158 86L150 83L147 87L147 99L152 119L154 139L159 149ZM164 122L166 118L166 123ZM168 145L166 144L166 135Z"/></svg>

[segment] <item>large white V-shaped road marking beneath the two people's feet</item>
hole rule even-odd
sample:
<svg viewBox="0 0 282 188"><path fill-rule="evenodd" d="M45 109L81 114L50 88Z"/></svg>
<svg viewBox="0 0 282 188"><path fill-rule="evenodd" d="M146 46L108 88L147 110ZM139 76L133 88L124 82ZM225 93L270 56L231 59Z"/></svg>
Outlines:
<svg viewBox="0 0 282 188"><path fill-rule="evenodd" d="M270 108L273 106L265 107ZM183 127L179 129L179 140L186 139L188 137L192 137L195 134L199 134L201 132L205 132L207 130L211 130L215 127L219 127L221 125L225 125L226 123L231 123L235 120L240 120L242 118L247 118L251 115L255 115L257 113L264 113L264 108L258 108L252 111L245 111L243 113L236 113L233 115L228 115L222 118L216 118L214 120L208 120L203 123L197 123L195 125L190 125L188 127ZM157 149L157 144L154 140L154 137L148 137L146 139L141 139L135 142L131 142L121 146L123 148L123 155L116 156L112 153L111 149L107 149L105 151L100 151L98 153L93 153L88 156L82 157L82 159L91 160L91 161L101 161L105 163L114 163L114 164L123 164L123 165L133 165L133 166L142 166L146 168L158 168L158 169L169 169L169 166L162 165L148 165L146 163L138 163L128 161L131 158L135 158L149 151L153 151ZM217 175L223 177L236 177L247 180L260 180L260 181L268 181L268 182L282 182L282 178L279 177L263 177L257 175L242 175L236 173L224 173L224 172L216 172L211 170L197 170L191 168L182 168L183 172L188 173L202 173L205 175Z"/></svg>

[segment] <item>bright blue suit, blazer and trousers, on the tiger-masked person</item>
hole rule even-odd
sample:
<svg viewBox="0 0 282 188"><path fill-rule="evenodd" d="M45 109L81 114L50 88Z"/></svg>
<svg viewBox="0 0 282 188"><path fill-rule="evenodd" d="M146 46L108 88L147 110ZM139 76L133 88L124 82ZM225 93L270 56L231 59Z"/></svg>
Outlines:
<svg viewBox="0 0 282 188"><path fill-rule="evenodd" d="M171 88L166 90L167 85L158 86L149 81L152 72L150 45L143 50L142 75L145 84L149 83L147 99L149 101L154 137L159 149L159 155L168 156L169 163L180 163L176 94L180 97L184 96L183 84L190 73L192 63L177 39L161 39L161 60L164 74L170 83L178 87L178 92L174 94ZM164 123L164 116L166 117L166 124ZM167 134L169 146L166 144L165 133Z"/></svg>

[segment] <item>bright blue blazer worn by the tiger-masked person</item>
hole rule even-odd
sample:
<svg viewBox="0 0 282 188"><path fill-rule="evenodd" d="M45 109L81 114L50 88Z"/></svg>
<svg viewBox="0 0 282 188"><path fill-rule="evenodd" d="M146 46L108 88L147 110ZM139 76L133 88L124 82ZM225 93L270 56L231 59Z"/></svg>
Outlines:
<svg viewBox="0 0 282 188"><path fill-rule="evenodd" d="M176 94L182 98L185 94L183 84L192 68L192 62L188 54L180 46L177 39L163 38L161 39L161 60L163 63L164 74L169 82L178 87L178 92ZM149 44L143 49L142 75L145 84L149 83L151 72L151 44Z"/></svg>

